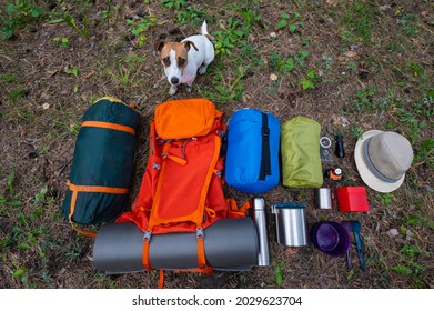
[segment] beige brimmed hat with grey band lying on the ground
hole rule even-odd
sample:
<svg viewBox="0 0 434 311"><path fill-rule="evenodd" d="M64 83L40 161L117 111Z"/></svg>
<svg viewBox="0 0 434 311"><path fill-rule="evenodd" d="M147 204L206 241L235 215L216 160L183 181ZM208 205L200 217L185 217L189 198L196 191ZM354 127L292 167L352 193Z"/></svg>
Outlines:
<svg viewBox="0 0 434 311"><path fill-rule="evenodd" d="M410 141L395 132L364 132L354 149L354 159L362 180L379 192L401 187L413 161Z"/></svg>

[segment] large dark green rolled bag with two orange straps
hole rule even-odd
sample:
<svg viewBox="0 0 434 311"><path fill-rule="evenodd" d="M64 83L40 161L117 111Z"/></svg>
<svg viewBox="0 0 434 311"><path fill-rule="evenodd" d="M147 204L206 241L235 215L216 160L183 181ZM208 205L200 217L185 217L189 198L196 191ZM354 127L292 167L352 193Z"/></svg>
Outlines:
<svg viewBox="0 0 434 311"><path fill-rule="evenodd" d="M124 210L133 175L140 114L118 99L105 97L83 116L62 204L74 223L114 221Z"/></svg>

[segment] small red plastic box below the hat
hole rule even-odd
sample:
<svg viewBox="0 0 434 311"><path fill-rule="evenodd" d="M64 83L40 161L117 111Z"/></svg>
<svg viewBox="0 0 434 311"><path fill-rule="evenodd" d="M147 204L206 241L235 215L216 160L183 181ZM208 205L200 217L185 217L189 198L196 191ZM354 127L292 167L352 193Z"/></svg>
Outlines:
<svg viewBox="0 0 434 311"><path fill-rule="evenodd" d="M340 187L336 189L340 212L367 212L366 189L364 187Z"/></svg>

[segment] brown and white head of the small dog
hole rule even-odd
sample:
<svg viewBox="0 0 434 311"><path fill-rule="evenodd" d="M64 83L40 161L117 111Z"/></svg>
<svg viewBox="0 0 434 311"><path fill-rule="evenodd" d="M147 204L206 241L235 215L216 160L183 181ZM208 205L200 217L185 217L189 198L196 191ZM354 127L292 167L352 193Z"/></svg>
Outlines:
<svg viewBox="0 0 434 311"><path fill-rule="evenodd" d="M169 83L172 86L181 83L182 73L189 62L188 53L192 47L198 51L198 48L191 41L160 41L157 44L155 48L160 54L161 63L164 67L164 73L168 77Z"/></svg>

